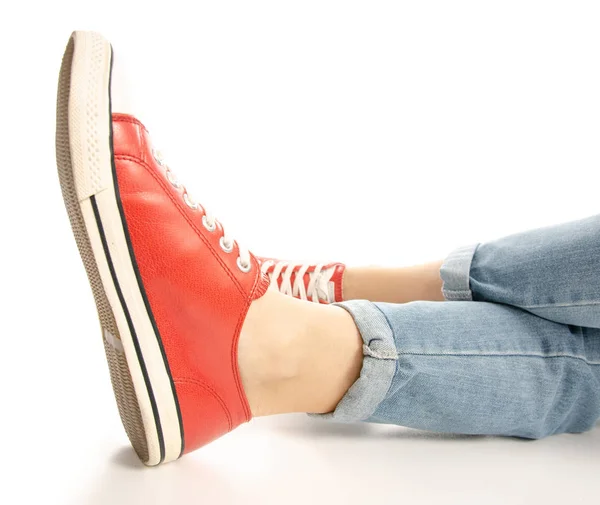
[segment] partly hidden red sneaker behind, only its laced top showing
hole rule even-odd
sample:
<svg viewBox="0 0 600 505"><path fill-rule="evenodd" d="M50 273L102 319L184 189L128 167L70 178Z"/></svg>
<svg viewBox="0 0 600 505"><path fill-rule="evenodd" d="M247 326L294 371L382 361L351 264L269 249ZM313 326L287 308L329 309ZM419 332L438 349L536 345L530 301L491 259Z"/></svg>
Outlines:
<svg viewBox="0 0 600 505"><path fill-rule="evenodd" d="M342 279L346 266L342 263L292 263L260 258L261 270L271 286L284 295L316 303L342 301Z"/></svg>

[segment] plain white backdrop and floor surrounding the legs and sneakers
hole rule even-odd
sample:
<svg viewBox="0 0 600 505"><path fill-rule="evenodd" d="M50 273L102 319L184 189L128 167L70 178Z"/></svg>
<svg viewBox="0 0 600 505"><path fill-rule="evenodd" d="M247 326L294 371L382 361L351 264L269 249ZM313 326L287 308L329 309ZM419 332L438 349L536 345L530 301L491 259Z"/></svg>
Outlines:
<svg viewBox="0 0 600 505"><path fill-rule="evenodd" d="M597 2L56 0L0 24L2 503L600 500L598 428L524 442L288 416L143 468L54 162L62 51L96 29L169 164L256 253L402 265L585 217Z"/></svg>

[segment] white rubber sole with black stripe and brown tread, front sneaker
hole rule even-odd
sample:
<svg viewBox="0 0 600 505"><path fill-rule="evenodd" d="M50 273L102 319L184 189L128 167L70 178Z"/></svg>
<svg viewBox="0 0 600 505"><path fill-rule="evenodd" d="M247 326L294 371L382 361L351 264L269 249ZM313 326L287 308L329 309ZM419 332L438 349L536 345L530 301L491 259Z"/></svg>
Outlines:
<svg viewBox="0 0 600 505"><path fill-rule="evenodd" d="M183 425L116 184L111 64L110 44L101 35L72 34L59 77L56 162L121 421L139 458L154 466L181 456Z"/></svg>

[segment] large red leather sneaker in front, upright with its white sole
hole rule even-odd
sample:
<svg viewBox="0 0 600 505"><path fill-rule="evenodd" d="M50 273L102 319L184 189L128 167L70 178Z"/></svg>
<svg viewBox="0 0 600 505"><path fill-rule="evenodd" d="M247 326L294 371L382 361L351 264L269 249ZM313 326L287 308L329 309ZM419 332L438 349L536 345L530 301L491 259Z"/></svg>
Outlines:
<svg viewBox="0 0 600 505"><path fill-rule="evenodd" d="M240 329L268 279L196 204L134 117L111 117L112 52L75 32L58 86L56 155L121 420L147 465L251 417Z"/></svg>

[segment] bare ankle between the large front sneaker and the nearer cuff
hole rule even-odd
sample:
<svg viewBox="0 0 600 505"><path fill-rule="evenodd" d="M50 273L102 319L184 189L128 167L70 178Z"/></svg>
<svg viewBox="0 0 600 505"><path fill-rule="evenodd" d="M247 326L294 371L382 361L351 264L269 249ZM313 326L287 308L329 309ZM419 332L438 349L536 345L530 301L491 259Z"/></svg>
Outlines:
<svg viewBox="0 0 600 505"><path fill-rule="evenodd" d="M344 309L270 291L250 307L239 365L254 416L328 412L358 377L362 340Z"/></svg>

